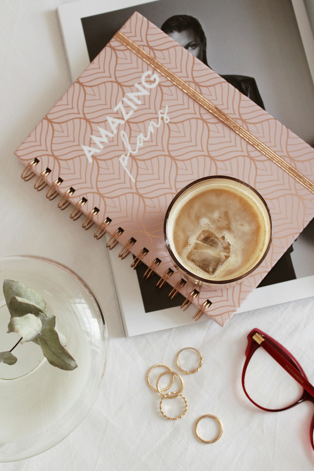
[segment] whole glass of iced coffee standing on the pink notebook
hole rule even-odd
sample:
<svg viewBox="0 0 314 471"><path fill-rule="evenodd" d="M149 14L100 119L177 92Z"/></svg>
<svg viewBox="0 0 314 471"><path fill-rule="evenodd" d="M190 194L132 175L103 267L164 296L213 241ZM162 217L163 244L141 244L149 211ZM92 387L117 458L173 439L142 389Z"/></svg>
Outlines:
<svg viewBox="0 0 314 471"><path fill-rule="evenodd" d="M175 265L213 284L242 279L269 249L272 220L263 198L228 177L197 180L170 204L166 244Z"/></svg>

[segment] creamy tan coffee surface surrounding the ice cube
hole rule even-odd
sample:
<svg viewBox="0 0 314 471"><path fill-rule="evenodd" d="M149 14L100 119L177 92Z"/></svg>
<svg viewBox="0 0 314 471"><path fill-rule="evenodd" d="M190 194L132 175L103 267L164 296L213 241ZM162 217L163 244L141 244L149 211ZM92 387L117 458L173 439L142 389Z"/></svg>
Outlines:
<svg viewBox="0 0 314 471"><path fill-rule="evenodd" d="M175 257L194 275L209 280L227 280L242 276L253 268L269 240L269 219L265 206L247 187L233 187L216 180L201 185L178 200L168 219L169 244ZM230 255L210 274L188 259L196 253L195 244L202 231L211 231L230 244ZM211 250L202 246L201 251ZM193 251L193 252L191 252ZM200 252L197 252L200 254Z"/></svg>

